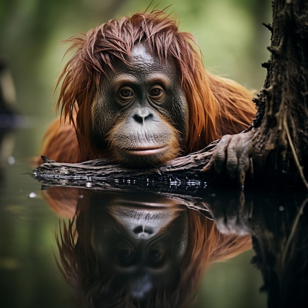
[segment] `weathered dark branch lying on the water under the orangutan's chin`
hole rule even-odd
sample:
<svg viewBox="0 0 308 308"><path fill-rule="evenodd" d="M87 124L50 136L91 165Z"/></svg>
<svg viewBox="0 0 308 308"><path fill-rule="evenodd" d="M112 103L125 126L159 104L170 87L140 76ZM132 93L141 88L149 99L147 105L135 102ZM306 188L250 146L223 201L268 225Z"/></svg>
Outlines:
<svg viewBox="0 0 308 308"><path fill-rule="evenodd" d="M213 149L219 140L205 149L178 157L166 165L154 168L127 168L110 158L94 159L81 163L59 163L42 156L43 164L33 170L33 176L47 185L72 185L92 187L99 183L146 183L169 182L203 185L211 180L211 172L204 173L202 168L209 162ZM114 186L114 185L113 185Z"/></svg>

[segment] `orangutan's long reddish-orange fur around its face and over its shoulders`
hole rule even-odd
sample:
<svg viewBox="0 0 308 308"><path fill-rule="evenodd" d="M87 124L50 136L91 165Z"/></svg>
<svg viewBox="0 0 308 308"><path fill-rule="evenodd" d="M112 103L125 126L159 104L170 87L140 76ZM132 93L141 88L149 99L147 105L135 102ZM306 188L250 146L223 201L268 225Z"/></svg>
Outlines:
<svg viewBox="0 0 308 308"><path fill-rule="evenodd" d="M126 62L139 42L149 45L160 60L172 56L182 78L189 110L189 132L182 154L204 148L224 134L242 131L252 121L252 93L238 83L210 74L204 67L194 36L178 30L178 24L163 11L136 13L110 20L86 34L69 38L65 65L57 87L56 108L61 117L44 136L41 154L59 162L80 162L108 156L97 152L89 140L91 107L101 78L113 69L113 60Z"/></svg>

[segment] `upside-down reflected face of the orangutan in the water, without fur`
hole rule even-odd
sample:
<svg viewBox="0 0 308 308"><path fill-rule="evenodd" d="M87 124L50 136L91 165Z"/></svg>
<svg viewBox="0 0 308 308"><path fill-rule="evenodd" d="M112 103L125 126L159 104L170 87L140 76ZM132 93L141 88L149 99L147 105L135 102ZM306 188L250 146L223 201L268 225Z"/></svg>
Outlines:
<svg viewBox="0 0 308 308"><path fill-rule="evenodd" d="M187 247L187 212L159 196L122 196L110 203L99 198L91 202L91 245L111 286L143 301L158 288L176 284Z"/></svg>

